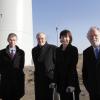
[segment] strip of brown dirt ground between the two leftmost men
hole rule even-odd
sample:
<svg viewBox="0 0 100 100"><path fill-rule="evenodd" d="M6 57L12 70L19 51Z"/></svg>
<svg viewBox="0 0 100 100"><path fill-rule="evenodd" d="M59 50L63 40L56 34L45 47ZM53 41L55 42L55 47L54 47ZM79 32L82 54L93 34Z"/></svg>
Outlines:
<svg viewBox="0 0 100 100"><path fill-rule="evenodd" d="M27 67L25 72L25 96L21 100L35 100L34 99L34 71L33 67Z"/></svg>

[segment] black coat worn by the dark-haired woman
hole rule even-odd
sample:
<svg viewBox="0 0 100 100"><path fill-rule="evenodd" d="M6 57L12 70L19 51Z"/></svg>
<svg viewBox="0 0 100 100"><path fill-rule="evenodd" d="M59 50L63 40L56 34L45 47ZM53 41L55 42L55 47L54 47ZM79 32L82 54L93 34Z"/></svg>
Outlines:
<svg viewBox="0 0 100 100"><path fill-rule="evenodd" d="M62 51L62 45L56 50L55 81L58 92L65 92L68 86L75 87L80 92L76 65L78 62L78 50L69 44L66 50Z"/></svg>

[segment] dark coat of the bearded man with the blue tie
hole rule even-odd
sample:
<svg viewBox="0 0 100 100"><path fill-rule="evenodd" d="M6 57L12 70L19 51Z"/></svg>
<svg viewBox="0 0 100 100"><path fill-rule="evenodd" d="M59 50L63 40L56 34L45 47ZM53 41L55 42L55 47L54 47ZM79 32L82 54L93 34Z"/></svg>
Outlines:
<svg viewBox="0 0 100 100"><path fill-rule="evenodd" d="M100 95L100 57L96 60L93 47L83 51L83 83L89 93Z"/></svg>

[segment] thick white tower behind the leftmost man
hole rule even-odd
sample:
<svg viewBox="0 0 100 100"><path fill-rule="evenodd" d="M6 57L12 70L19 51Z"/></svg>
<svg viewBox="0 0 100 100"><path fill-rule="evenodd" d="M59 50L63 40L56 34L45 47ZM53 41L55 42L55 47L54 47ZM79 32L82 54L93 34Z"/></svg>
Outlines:
<svg viewBox="0 0 100 100"><path fill-rule="evenodd" d="M0 49L7 46L9 33L18 36L17 45L25 51L25 65L32 65L32 0L0 0Z"/></svg>

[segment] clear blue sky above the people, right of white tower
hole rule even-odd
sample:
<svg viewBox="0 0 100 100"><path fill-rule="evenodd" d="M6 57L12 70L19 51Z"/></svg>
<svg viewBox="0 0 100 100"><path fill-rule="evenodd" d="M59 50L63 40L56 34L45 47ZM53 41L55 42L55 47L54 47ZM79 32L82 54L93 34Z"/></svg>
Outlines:
<svg viewBox="0 0 100 100"><path fill-rule="evenodd" d="M100 0L33 0L33 33L44 32L48 43L57 45L63 29L72 32L72 44L82 53L90 43L86 34L91 26L100 27Z"/></svg>

